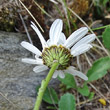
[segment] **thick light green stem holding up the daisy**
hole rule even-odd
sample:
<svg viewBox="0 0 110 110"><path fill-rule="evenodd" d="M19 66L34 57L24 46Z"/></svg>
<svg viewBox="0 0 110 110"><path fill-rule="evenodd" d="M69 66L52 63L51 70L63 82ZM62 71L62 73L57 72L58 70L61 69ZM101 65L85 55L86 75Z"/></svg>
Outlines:
<svg viewBox="0 0 110 110"><path fill-rule="evenodd" d="M42 97L44 95L44 92L46 90L46 87L48 86L48 83L51 80L51 78L53 76L53 73L55 72L55 70L58 67L58 65L59 65L59 63L58 62L55 62L52 65L52 68L50 69L50 71L49 71L46 79L42 80L41 87L39 89L37 100L36 100L36 103L35 103L35 106L34 106L34 110L39 110L40 104L42 102Z"/></svg>

